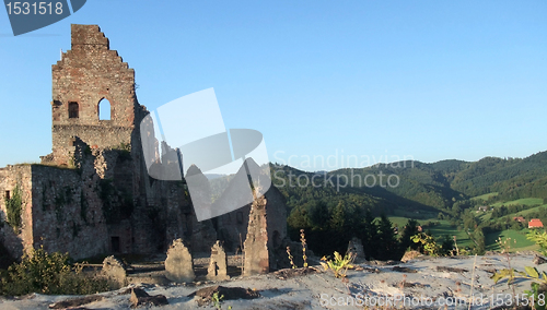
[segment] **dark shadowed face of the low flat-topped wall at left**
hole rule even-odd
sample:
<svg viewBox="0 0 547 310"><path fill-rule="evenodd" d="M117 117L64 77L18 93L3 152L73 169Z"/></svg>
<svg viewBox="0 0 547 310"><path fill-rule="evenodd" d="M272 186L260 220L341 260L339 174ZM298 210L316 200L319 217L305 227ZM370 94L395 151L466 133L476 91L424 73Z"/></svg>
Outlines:
<svg viewBox="0 0 547 310"><path fill-rule="evenodd" d="M33 240L48 252L74 259L107 251L107 229L100 189L75 169L32 166ZM86 174L88 175L88 174Z"/></svg>

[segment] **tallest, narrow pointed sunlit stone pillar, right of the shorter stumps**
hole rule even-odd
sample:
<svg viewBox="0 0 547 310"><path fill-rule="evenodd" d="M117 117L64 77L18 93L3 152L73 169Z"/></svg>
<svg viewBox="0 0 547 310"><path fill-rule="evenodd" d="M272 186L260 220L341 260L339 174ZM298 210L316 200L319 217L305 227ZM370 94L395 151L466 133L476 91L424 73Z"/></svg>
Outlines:
<svg viewBox="0 0 547 310"><path fill-rule="evenodd" d="M266 199L263 195L255 199L251 205L247 238L243 245L245 253L244 276L269 272L268 225L266 216Z"/></svg>

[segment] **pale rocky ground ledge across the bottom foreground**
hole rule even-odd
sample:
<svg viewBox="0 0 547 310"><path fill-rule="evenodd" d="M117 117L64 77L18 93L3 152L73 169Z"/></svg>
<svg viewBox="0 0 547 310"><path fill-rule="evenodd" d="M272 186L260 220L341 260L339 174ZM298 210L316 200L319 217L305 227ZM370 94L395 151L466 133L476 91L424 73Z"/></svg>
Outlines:
<svg viewBox="0 0 547 310"><path fill-rule="evenodd" d="M534 265L534 253L512 254L511 265L523 271L524 266ZM547 264L534 266L539 272L547 271ZM365 306L369 306L368 309L468 309L469 303L466 301L469 301L472 295L476 297L472 309L491 309L501 302L509 305L511 297L517 298L521 305L526 302L522 294L529 289L531 284L524 279L516 281L514 287L508 286L505 281L493 283L490 278L492 272L508 267L508 258L502 254L477 258L422 257L406 263L393 264L368 262L348 271L348 276L344 281L335 278L330 271L324 272L319 266L315 267L318 272L312 270L294 276L291 276L293 271L252 277L235 276L219 283L197 282L177 285L133 282L119 290L88 297L85 301L89 303L77 309L128 309L131 305L132 287L142 288L150 296L165 296L168 305L159 306L158 309L216 309L212 303L207 303L207 300L203 303L201 297L195 296L198 289L216 285L244 288L243 294L257 297L223 300L220 305L222 309L229 309L229 306L232 309L276 310L366 309ZM161 271L152 272L161 273ZM211 289L208 291L209 295L212 293ZM226 297L230 298L228 295L229 293ZM2 298L0 309L47 309L54 302L73 298L75 297L38 294L15 299Z"/></svg>

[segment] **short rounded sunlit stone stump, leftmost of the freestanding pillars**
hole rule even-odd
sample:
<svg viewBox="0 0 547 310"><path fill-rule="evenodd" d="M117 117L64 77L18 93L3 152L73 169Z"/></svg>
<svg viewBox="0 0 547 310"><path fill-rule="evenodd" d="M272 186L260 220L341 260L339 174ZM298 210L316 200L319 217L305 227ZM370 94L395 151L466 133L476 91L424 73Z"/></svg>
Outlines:
<svg viewBox="0 0 547 310"><path fill-rule="evenodd" d="M165 260L165 277L173 282L194 282L194 261L183 239L173 240Z"/></svg>

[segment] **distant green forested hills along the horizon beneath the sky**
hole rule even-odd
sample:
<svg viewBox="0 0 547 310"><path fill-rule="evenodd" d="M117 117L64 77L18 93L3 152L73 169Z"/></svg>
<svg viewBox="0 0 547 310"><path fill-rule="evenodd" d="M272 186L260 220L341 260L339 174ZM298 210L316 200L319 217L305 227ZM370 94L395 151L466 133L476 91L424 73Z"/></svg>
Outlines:
<svg viewBox="0 0 547 310"><path fill-rule="evenodd" d="M271 171L291 208L313 208L319 201L330 208L344 201L346 206L374 214L405 216L400 213L451 211L454 204L465 206L470 198L493 192L498 194L490 203L547 199L547 152L526 158L407 160L317 174L272 165Z"/></svg>

